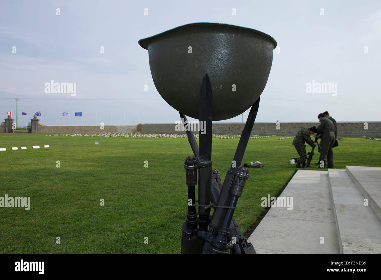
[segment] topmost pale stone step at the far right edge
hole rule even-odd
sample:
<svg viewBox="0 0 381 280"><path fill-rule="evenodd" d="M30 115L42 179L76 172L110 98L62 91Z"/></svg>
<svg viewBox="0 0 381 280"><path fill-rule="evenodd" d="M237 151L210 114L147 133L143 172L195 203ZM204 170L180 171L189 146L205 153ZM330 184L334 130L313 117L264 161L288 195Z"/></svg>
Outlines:
<svg viewBox="0 0 381 280"><path fill-rule="evenodd" d="M381 220L381 167L346 166L346 171Z"/></svg>

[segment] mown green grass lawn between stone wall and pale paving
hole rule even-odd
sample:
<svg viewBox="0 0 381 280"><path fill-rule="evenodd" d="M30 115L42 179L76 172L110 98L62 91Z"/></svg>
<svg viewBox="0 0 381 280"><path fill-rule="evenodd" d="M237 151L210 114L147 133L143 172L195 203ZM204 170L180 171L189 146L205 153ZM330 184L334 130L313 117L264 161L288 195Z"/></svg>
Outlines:
<svg viewBox="0 0 381 280"><path fill-rule="evenodd" d="M278 195L295 172L293 139L278 138L250 139L247 146L243 163L259 160L265 167L250 169L234 213L246 234L264 211L261 197ZM213 168L221 179L238 141L213 139ZM335 168L381 166L380 145L344 138L334 149ZM183 163L192 155L186 138L1 133L2 147L7 150L0 152L0 197L30 197L31 206L0 208L0 253L180 253L187 211Z"/></svg>

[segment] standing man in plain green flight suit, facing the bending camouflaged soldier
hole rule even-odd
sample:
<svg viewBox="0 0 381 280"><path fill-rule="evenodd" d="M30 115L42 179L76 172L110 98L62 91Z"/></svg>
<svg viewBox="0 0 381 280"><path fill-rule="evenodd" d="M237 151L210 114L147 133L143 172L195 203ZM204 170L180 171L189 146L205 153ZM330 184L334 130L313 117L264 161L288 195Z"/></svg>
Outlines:
<svg viewBox="0 0 381 280"><path fill-rule="evenodd" d="M324 114L319 114L320 123L317 134L321 134L319 163L323 166L318 168L333 168L333 144L335 143L335 125Z"/></svg>

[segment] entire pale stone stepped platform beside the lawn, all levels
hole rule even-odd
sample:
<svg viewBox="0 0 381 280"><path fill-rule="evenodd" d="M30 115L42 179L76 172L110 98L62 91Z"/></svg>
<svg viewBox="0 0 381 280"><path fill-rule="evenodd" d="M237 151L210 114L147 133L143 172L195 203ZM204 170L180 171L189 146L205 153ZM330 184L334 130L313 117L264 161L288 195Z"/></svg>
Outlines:
<svg viewBox="0 0 381 280"><path fill-rule="evenodd" d="M250 236L258 254L381 253L381 168L298 170L280 197L293 209L267 212Z"/></svg>

